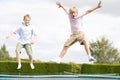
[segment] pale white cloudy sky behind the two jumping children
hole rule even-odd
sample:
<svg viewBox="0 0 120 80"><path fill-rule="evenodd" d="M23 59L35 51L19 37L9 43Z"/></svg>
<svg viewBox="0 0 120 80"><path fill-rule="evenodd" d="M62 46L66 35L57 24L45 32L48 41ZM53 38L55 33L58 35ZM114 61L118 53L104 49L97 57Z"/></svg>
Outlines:
<svg viewBox="0 0 120 80"><path fill-rule="evenodd" d="M95 7L99 0L0 0L0 46L7 45L10 56L15 57L18 36L9 40L5 36L14 31L22 22L25 14L32 17L31 24L38 32L37 42L33 45L35 60L49 61L61 52L64 42L69 38L70 25L67 15L56 5L61 2L66 8L76 6L79 12ZM120 47L120 5L119 0L102 0L102 8L84 17L83 26L88 40L105 36ZM28 58L22 50L22 58ZM71 46L62 62L88 63L84 47L79 43Z"/></svg>

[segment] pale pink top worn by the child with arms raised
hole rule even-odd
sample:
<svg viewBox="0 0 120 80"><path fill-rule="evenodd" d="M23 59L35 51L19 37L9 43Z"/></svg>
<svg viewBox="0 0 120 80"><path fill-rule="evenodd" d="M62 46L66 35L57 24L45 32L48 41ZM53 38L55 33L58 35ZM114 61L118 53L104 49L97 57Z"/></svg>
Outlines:
<svg viewBox="0 0 120 80"><path fill-rule="evenodd" d="M83 13L81 15L78 15L76 18L72 18L68 12L67 15L69 16L72 34L77 34L81 31L83 32L84 30L83 30L82 21L83 21L83 16L85 16L86 14Z"/></svg>

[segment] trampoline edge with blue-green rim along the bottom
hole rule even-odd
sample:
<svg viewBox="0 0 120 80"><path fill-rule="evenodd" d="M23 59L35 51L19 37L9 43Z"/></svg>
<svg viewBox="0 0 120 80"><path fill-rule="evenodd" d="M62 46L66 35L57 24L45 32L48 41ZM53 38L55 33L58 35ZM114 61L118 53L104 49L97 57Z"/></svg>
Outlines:
<svg viewBox="0 0 120 80"><path fill-rule="evenodd" d="M117 75L0 75L0 80L120 80Z"/></svg>

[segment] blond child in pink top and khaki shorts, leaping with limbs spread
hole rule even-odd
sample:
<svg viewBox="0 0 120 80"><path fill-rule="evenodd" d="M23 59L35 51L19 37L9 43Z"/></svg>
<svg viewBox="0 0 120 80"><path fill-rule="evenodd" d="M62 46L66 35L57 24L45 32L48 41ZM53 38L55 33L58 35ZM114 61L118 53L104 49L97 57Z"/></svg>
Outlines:
<svg viewBox="0 0 120 80"><path fill-rule="evenodd" d="M71 32L72 35L70 38L65 42L64 47L57 59L52 60L53 62L60 63L61 59L66 54L68 48L74 44L75 42L79 41L80 44L84 45L84 48L87 52L89 61L95 61L95 59L91 56L91 52L89 49L88 41L85 37L85 33L82 29L82 19L85 15L93 12L94 10L101 8L101 1L99 1L98 5L95 8L87 10L82 15L78 15L78 9L76 7L72 7L69 9L69 12L67 12L67 9L59 2L57 2L57 5L59 8L62 8L66 14L69 17L70 25L71 25Z"/></svg>

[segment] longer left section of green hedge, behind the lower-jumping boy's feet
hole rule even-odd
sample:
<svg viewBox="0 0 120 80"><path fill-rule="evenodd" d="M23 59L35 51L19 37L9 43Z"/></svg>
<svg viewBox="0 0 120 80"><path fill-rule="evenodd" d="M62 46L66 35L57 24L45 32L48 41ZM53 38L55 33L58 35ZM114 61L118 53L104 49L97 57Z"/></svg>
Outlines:
<svg viewBox="0 0 120 80"><path fill-rule="evenodd" d="M56 64L52 62L34 62L35 69L30 68L29 62L22 62L22 68L17 70L17 62L0 61L0 74L9 75L53 75L63 74L64 71L79 73L80 67L74 63Z"/></svg>

